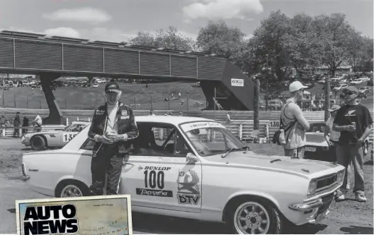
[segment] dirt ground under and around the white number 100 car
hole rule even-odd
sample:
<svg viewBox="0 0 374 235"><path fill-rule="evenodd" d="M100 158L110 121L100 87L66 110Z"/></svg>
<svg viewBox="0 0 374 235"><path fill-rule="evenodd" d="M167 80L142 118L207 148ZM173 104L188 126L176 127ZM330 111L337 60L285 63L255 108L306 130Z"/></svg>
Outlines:
<svg viewBox="0 0 374 235"><path fill-rule="evenodd" d="M254 152L283 153L278 145L252 145ZM0 138L0 234L16 234L15 200L45 198L30 191L21 176L21 157L29 148L20 139ZM369 156L364 162L368 162ZM373 234L373 165L365 164L367 203L358 203L352 193L348 200L333 203L331 213L321 224L288 228L290 234ZM351 181L353 183L353 181ZM134 234L227 234L222 224L196 222L154 215L133 215ZM173 225L170 225L173 224Z"/></svg>

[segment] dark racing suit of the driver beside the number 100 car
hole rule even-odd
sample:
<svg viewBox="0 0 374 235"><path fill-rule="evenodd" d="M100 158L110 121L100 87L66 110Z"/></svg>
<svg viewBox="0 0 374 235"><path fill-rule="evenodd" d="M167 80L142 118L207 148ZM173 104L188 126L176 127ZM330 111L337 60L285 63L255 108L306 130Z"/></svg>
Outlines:
<svg viewBox="0 0 374 235"><path fill-rule="evenodd" d="M106 180L106 194L118 194L123 159L128 159L131 150L130 141L119 141L113 144L97 142L97 135L104 135L108 128L107 105L104 104L95 110L89 128L89 138L94 140L94 150L91 159L92 185L90 191L93 195L103 195L103 183ZM128 140L137 138L139 133L132 109L118 102L115 116L115 128L119 135L128 135Z"/></svg>

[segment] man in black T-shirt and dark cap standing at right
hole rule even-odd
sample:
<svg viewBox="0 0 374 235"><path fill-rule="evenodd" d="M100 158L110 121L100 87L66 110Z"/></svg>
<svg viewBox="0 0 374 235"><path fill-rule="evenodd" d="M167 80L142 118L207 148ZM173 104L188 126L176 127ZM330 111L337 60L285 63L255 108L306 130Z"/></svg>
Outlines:
<svg viewBox="0 0 374 235"><path fill-rule="evenodd" d="M366 202L365 188L363 180L363 144L365 138L373 127L373 118L367 107L357 102L358 89L348 86L342 91L341 97L346 101L346 105L336 112L333 123L333 130L340 132L340 138L336 147L336 162L348 167L352 161L354 168L354 188L358 202ZM347 171L346 171L347 172ZM345 200L347 174L344 175L344 182L341 189L336 194L336 200Z"/></svg>

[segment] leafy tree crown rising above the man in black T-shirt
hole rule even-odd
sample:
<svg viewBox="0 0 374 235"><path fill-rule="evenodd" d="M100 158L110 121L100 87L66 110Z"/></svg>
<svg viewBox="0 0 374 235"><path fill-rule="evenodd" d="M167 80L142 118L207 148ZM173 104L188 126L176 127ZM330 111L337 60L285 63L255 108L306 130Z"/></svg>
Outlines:
<svg viewBox="0 0 374 235"><path fill-rule="evenodd" d="M351 48L358 37L358 32L345 20L343 13L331 16L321 15L313 20L315 37L319 40L318 51L322 64L329 68L332 76L336 68L351 59Z"/></svg>

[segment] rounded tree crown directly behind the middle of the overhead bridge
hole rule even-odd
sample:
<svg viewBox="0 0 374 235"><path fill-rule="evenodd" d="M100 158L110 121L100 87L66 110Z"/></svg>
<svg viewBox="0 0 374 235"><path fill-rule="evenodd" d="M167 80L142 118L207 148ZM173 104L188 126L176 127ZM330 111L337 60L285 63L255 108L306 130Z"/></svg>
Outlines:
<svg viewBox="0 0 374 235"><path fill-rule="evenodd" d="M222 20L209 21L200 28L196 44L201 52L225 56L235 64L245 48L245 36L239 28L230 27Z"/></svg>

